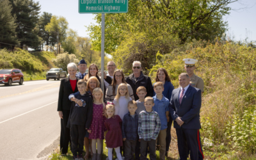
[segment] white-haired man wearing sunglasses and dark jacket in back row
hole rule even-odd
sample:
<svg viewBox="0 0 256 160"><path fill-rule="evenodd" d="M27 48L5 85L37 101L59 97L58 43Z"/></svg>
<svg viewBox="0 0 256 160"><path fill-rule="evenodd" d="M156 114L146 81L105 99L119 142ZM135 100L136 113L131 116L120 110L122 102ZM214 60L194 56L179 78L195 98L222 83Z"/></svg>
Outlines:
<svg viewBox="0 0 256 160"><path fill-rule="evenodd" d="M147 89L147 95L145 97L153 97L154 93L150 77L145 76L141 70L142 68L140 61L134 61L132 63L133 73L125 79L125 81L132 87L135 100L139 99L138 95L136 94L136 90L139 88L139 86L144 86Z"/></svg>

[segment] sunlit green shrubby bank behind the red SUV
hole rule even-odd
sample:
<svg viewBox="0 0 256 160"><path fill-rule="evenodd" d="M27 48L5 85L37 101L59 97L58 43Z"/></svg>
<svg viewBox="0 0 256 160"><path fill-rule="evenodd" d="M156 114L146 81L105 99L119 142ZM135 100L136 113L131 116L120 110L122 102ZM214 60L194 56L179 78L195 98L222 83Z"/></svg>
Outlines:
<svg viewBox="0 0 256 160"><path fill-rule="evenodd" d="M19 68L24 74L24 81L45 79L45 72L56 67L51 61L52 58L56 58L54 52L28 52L22 49L9 52L2 49L0 69Z"/></svg>

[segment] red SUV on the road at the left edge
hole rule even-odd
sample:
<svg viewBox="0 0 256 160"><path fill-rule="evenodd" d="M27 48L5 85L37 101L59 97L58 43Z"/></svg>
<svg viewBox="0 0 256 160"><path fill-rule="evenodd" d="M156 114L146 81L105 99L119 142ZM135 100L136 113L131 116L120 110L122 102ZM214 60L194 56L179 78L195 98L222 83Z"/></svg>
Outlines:
<svg viewBox="0 0 256 160"><path fill-rule="evenodd" d="M24 76L19 69L1 69L0 70L0 84L11 86L12 83L23 84Z"/></svg>

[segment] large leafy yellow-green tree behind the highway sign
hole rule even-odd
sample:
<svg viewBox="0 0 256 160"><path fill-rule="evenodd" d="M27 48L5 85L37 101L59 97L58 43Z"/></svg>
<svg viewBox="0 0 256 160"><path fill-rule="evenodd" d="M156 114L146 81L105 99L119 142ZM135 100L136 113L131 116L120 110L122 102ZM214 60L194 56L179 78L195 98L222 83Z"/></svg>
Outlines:
<svg viewBox="0 0 256 160"><path fill-rule="evenodd" d="M144 32L157 36L176 36L180 43L186 40L214 40L226 31L223 16L230 10L228 4L237 0L131 0L129 12L107 14L105 19L105 51L115 52L129 33ZM100 51L101 15L95 20L99 25L88 26L95 50ZM163 35L167 33L167 35Z"/></svg>

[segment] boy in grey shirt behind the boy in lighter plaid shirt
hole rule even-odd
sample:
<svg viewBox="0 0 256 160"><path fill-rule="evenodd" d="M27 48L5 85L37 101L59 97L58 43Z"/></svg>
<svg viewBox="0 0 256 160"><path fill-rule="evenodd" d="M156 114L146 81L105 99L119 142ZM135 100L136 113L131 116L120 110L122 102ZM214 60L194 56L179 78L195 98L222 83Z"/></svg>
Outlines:
<svg viewBox="0 0 256 160"><path fill-rule="evenodd" d="M136 113L140 115L140 112L145 110L144 100L145 100L145 96L147 95L147 89L144 86L139 86L136 90L136 94L139 97L139 99L136 100L137 107L138 107L136 109ZM146 152L146 155L147 155L147 152ZM140 160L140 141L139 140L137 140L136 142L135 159Z"/></svg>

